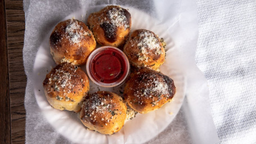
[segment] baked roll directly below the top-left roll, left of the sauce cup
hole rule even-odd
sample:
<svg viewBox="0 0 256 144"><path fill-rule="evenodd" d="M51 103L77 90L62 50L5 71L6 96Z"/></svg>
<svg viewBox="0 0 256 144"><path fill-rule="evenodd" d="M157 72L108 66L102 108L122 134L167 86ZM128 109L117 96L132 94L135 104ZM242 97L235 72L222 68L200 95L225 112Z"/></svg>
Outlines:
<svg viewBox="0 0 256 144"><path fill-rule="evenodd" d="M52 107L78 112L89 91L89 80L78 66L61 64L46 75L43 88Z"/></svg>

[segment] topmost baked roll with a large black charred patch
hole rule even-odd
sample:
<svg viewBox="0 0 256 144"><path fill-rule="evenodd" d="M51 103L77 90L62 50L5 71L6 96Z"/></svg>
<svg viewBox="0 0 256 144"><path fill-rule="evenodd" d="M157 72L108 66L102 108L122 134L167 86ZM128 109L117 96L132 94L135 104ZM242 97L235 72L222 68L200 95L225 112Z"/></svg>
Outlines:
<svg viewBox="0 0 256 144"><path fill-rule="evenodd" d="M119 6L106 6L88 17L88 26L101 46L122 46L131 25L131 14Z"/></svg>

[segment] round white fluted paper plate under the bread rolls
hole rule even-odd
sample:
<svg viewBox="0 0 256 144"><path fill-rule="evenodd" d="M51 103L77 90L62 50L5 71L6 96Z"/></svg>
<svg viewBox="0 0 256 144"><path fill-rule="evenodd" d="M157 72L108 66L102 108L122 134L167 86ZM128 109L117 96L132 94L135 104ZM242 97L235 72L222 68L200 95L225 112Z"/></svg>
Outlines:
<svg viewBox="0 0 256 144"><path fill-rule="evenodd" d="M103 8L103 6L93 7L87 10L87 13L95 12ZM126 7L127 8L127 7ZM55 62L50 55L49 38L51 31L44 38L37 56L33 69L34 93L37 103L48 122L56 129L57 132L76 143L143 143L157 136L163 131L174 119L178 113L183 98L185 97L185 77L182 71L178 71L178 65L173 64L179 56L176 56L177 49L174 47L171 36L168 35L167 26L156 26L157 21L146 13L129 7L128 11L132 16L132 31L135 29L147 29L154 31L160 38L164 38L167 43L167 59L161 66L162 73L168 75L174 80L177 88L173 101L161 107L161 109L152 111L149 114L137 114L136 118L125 123L124 127L111 136L100 134L98 132L87 130L78 115L71 111L60 111L53 109L43 92L43 80L46 74L55 67ZM75 17L75 19L84 21L84 11L78 11L67 16L64 20ZM62 21L64 21L62 20ZM56 24L57 25L57 24ZM53 28L52 28L53 29ZM174 60L175 57L175 60ZM85 66L82 66L85 71ZM90 93L98 91L113 91L120 94L119 88L98 88L90 81ZM39 91L40 90L40 91Z"/></svg>

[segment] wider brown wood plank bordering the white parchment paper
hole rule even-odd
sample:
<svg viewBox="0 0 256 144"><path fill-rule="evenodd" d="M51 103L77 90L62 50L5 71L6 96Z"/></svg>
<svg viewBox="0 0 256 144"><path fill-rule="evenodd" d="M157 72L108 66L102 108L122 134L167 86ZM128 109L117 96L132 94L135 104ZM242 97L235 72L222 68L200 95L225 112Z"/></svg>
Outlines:
<svg viewBox="0 0 256 144"><path fill-rule="evenodd" d="M24 97L26 75L23 67L25 15L23 1L5 1L8 71L10 83L11 142L25 143Z"/></svg>

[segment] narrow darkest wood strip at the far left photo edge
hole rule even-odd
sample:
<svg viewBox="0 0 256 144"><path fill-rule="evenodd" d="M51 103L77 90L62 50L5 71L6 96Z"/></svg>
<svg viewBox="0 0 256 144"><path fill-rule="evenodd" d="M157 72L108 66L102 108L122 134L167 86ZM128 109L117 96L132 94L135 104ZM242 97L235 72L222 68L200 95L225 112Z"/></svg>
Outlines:
<svg viewBox="0 0 256 144"><path fill-rule="evenodd" d="M11 142L5 1L0 1L0 143Z"/></svg>

